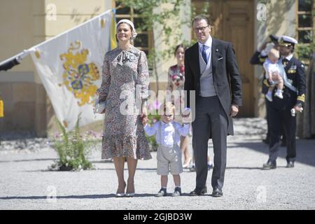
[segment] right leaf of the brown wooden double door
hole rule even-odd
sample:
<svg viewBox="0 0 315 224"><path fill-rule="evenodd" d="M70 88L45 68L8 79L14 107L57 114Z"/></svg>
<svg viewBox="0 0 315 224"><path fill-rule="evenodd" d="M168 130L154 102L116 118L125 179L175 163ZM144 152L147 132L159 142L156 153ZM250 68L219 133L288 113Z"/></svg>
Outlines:
<svg viewBox="0 0 315 224"><path fill-rule="evenodd" d="M223 39L232 42L241 73L241 117L253 117L255 113L255 79L253 66L249 64L253 55L253 9L251 0L230 0L223 4Z"/></svg>

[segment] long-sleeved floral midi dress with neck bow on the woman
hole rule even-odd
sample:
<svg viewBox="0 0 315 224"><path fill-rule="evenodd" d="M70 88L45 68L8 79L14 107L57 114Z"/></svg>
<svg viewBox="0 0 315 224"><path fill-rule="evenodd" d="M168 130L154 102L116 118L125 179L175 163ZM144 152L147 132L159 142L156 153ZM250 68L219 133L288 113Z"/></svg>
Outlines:
<svg viewBox="0 0 315 224"><path fill-rule="evenodd" d="M131 46L129 50L115 48L106 52L98 90L99 102L106 101L102 159L151 159L139 112L148 98L149 82L143 51Z"/></svg>

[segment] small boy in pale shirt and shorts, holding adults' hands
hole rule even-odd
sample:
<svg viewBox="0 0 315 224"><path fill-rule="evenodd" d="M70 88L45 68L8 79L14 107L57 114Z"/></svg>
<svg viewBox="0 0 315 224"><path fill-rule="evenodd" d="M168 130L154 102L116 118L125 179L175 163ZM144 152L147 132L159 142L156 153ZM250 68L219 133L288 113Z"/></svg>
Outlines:
<svg viewBox="0 0 315 224"><path fill-rule="evenodd" d="M174 178L175 190L173 197L181 196L181 174L183 165L181 164L181 149L179 148L180 136L187 136L189 125L183 126L173 121L175 106L171 102L162 104L160 108L161 120L150 127L146 125L144 131L148 136L156 135L158 142L158 169L157 173L161 176L161 189L156 197L167 195L167 175L169 170Z"/></svg>

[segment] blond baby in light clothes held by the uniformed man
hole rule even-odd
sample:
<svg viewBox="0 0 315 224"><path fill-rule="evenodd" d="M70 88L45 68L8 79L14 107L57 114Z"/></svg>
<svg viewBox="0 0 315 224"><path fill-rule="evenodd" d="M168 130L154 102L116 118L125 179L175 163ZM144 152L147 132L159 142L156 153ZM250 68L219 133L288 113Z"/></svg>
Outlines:
<svg viewBox="0 0 315 224"><path fill-rule="evenodd" d="M278 84L278 86L274 95L280 99L283 99L283 78L280 76L280 69L279 65L277 64L279 57L279 51L272 48L268 53L268 58L263 64L263 67L266 71L266 78L270 84L269 90L267 94L265 94L265 97L269 100L269 102L272 102L272 90L274 89L275 84Z"/></svg>

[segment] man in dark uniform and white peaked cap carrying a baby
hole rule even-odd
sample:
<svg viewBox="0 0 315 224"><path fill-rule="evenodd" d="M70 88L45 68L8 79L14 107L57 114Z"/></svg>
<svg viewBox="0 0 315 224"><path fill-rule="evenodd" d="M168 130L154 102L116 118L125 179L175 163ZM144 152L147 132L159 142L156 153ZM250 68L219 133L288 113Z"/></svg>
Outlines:
<svg viewBox="0 0 315 224"><path fill-rule="evenodd" d="M279 67L286 72L286 80L284 80L283 99L274 97L269 104L269 160L263 165L265 169L276 168L282 125L286 133L286 167L294 167L296 119L293 112L302 112L305 98L304 64L293 57L294 46L297 41L290 36L281 36L278 43L281 54Z"/></svg>

